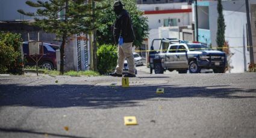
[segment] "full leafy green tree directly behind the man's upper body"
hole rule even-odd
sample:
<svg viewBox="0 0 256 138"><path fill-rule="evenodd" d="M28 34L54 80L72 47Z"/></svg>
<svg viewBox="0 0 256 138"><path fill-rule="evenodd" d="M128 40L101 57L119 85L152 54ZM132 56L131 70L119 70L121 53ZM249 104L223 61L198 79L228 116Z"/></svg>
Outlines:
<svg viewBox="0 0 256 138"><path fill-rule="evenodd" d="M108 8L105 8L100 14L99 17L99 27L97 31L97 41L100 45L102 44L114 44L114 37L112 32L112 26L114 20L116 19L116 15L113 11L113 2L114 0L106 0ZM142 45L143 40L148 37L148 19L147 17L143 17L143 11L140 11L137 8L135 0L122 0L122 3L125 4L124 9L127 10L130 14L131 20L133 22L134 34L136 36L136 40L134 41L134 45L140 47Z"/></svg>

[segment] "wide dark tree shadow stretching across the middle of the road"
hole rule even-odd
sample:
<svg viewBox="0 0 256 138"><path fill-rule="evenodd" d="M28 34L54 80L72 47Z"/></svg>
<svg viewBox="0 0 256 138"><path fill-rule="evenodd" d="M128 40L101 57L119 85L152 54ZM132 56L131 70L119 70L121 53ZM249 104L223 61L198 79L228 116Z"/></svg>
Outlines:
<svg viewBox="0 0 256 138"><path fill-rule="evenodd" d="M164 88L164 94L155 94ZM175 100L176 98L256 98L249 96L256 89L228 88L223 86L175 86L138 85L121 86L92 85L0 85L0 106L31 106L39 108L84 107L110 109L140 106L142 100Z"/></svg>

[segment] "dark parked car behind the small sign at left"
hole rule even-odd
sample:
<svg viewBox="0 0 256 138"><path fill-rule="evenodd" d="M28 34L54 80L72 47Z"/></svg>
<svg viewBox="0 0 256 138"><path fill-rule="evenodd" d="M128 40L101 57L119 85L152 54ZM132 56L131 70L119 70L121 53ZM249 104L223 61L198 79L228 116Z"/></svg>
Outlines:
<svg viewBox="0 0 256 138"><path fill-rule="evenodd" d="M36 65L36 62L33 60L36 59L36 56L30 56L29 55L29 47L28 42L23 42L23 55L25 59L25 66L34 66ZM43 43L43 56L39 60L39 67L46 68L48 70L54 70L54 68L57 68L57 62L56 62L56 49L58 49L58 46L55 44L48 44Z"/></svg>

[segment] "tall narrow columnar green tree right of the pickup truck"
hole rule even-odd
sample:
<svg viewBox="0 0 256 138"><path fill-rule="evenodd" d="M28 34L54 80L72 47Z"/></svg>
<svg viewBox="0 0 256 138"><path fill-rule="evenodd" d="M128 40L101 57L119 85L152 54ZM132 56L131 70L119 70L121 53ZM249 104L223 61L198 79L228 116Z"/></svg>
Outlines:
<svg viewBox="0 0 256 138"><path fill-rule="evenodd" d="M222 13L223 7L221 0L217 2L217 11L218 11L218 19L217 19L217 37L216 43L219 50L222 50L223 44L225 43L225 20Z"/></svg>

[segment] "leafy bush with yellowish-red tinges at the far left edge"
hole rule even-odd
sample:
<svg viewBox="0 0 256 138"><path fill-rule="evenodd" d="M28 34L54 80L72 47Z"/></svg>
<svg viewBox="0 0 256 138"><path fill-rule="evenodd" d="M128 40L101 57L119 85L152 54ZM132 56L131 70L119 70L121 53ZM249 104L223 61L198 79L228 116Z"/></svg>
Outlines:
<svg viewBox="0 0 256 138"><path fill-rule="evenodd" d="M0 32L0 73L23 74L20 34Z"/></svg>

